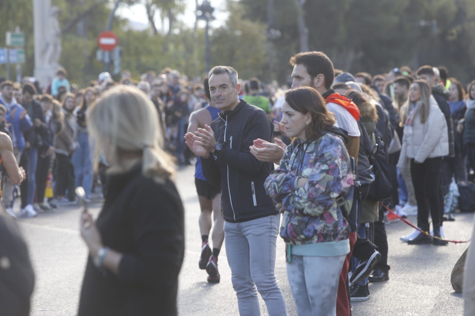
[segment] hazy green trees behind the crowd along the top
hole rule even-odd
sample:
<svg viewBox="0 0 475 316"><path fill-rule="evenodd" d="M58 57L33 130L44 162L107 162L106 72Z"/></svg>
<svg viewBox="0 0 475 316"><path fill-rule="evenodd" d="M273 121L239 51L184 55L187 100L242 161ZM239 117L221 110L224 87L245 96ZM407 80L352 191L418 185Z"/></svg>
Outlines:
<svg viewBox="0 0 475 316"><path fill-rule="evenodd" d="M296 0L274 0L274 21L282 36L267 39L267 0L228 0L228 21L210 29L211 65L232 65L241 78L258 76L281 83L291 73L289 58L299 51ZM104 70L95 59L97 35L105 29L113 0L52 0L62 12L63 52L60 63L71 82L85 86ZM3 0L0 6L0 46L5 32L19 26L26 37L23 74L33 74L33 1ZM175 17L184 0L123 0L124 6L141 4L150 12L172 19L168 34L126 28L114 18L112 30L123 47L123 69L138 79L147 70L166 66L190 78L205 73L204 29L184 25ZM89 10L89 11L88 11ZM85 17L79 19L84 12ZM474 0L307 0L304 20L309 46L330 56L335 67L350 72L387 72L409 65L446 65L449 75L463 82L475 77ZM432 20L437 22L434 29ZM78 22L79 23L76 23ZM421 25L421 21L426 21ZM150 21L144 21L149 22ZM160 29L160 28L159 28ZM435 31L435 32L434 32ZM113 68L113 67L112 67ZM15 67L11 67L12 77ZM0 76L5 76L0 65ZM116 79L119 79L116 77Z"/></svg>

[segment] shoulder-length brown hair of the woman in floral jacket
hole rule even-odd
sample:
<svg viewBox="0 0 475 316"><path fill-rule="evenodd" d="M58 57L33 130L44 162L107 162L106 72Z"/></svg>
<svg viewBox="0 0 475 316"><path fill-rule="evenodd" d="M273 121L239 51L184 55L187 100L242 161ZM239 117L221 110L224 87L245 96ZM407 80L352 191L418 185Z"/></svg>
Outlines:
<svg viewBox="0 0 475 316"><path fill-rule="evenodd" d="M335 124L335 119L326 109L325 100L314 88L291 89L285 93L285 102L297 112L310 113L312 122L305 130L305 136L309 140L318 139L325 128Z"/></svg>

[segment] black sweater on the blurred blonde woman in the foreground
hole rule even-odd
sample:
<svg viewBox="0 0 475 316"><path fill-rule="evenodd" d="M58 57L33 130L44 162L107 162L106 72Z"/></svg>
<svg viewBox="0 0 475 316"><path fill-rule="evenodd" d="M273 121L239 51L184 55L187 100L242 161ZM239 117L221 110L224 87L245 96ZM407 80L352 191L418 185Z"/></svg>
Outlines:
<svg viewBox="0 0 475 316"><path fill-rule="evenodd" d="M183 214L171 181L143 177L140 166L111 176L97 227L104 245L123 258L117 275L88 258L78 316L177 315Z"/></svg>

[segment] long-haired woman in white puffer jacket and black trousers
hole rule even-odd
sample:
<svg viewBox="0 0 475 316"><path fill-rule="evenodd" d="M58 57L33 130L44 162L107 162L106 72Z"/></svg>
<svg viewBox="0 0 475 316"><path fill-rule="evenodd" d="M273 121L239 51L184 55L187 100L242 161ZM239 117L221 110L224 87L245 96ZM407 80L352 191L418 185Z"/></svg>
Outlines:
<svg viewBox="0 0 475 316"><path fill-rule="evenodd" d="M418 227L429 231L429 209L434 237L440 238L440 175L442 157L448 155L447 122L444 114L431 97L430 87L421 80L409 88L409 98L401 119L404 120L404 136L398 167L404 168L410 161L411 177L418 204ZM410 159L410 160L409 160ZM433 243L446 245L437 238L419 233L409 244Z"/></svg>

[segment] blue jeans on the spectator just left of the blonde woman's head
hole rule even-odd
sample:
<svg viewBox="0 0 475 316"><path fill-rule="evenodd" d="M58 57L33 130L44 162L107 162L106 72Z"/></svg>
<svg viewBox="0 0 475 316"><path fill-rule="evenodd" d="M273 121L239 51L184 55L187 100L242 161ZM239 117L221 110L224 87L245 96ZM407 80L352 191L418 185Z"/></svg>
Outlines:
<svg viewBox="0 0 475 316"><path fill-rule="evenodd" d="M89 134L85 132L77 133L79 148L73 155L74 174L76 177L76 187L82 186L86 197L91 197L93 171L91 150L89 148Z"/></svg>

